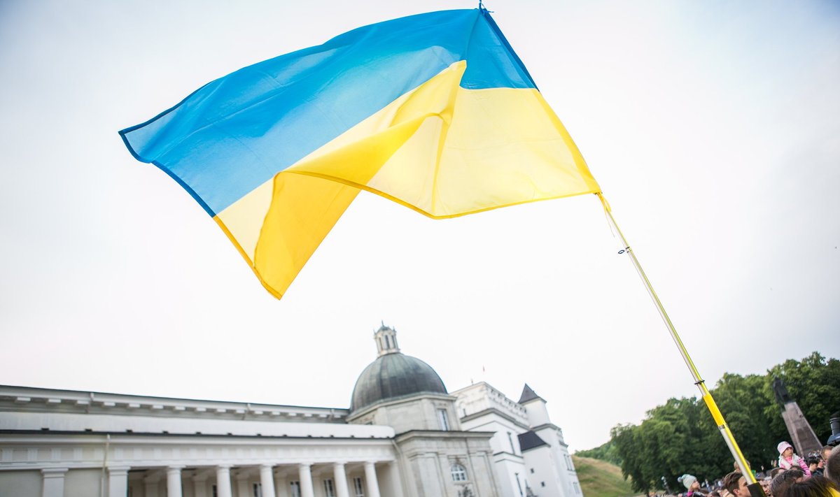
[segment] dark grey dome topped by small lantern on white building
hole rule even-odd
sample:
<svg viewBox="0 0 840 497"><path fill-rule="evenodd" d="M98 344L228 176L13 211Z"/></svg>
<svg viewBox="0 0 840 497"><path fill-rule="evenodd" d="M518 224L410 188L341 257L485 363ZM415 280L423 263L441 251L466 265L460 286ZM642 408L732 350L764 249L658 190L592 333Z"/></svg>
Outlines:
<svg viewBox="0 0 840 497"><path fill-rule="evenodd" d="M380 355L356 380L350 400L351 412L410 395L447 395L444 381L432 366L400 352L396 347L396 332L392 328L383 324L374 339Z"/></svg>

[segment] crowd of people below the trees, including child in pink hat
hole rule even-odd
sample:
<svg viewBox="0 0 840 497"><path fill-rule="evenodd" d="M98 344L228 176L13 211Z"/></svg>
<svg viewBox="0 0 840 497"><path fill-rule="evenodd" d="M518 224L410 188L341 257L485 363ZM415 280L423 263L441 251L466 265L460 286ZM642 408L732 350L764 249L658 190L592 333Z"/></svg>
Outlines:
<svg viewBox="0 0 840 497"><path fill-rule="evenodd" d="M822 447L805 458L794 453L788 442L781 442L777 448L777 467L766 473L753 471L767 497L840 497L840 446ZM737 463L735 466L735 471L714 484L706 482L705 488L690 474L680 476L678 481L687 491L678 497L757 497L750 492L748 479Z"/></svg>

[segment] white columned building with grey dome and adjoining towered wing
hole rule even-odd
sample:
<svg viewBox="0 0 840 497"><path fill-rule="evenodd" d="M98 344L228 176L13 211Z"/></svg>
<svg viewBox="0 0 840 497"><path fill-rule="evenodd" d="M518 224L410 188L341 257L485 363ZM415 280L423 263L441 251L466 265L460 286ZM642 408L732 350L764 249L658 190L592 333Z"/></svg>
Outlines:
<svg viewBox="0 0 840 497"><path fill-rule="evenodd" d="M349 409L0 386L2 497L575 497L526 385L449 394L396 332Z"/></svg>

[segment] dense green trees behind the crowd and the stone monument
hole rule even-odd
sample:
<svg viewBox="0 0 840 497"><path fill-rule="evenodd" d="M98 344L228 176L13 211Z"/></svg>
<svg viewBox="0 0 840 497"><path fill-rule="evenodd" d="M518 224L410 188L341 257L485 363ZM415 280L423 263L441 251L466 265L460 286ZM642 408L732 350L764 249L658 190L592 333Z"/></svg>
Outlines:
<svg viewBox="0 0 840 497"><path fill-rule="evenodd" d="M757 471L770 468L779 455L776 444L790 438L773 393L774 376L785 382L821 441L831 435L829 416L840 410L840 361L816 352L775 365L764 376L724 374L712 395ZM640 425L615 426L610 442L578 454L604 459L610 454L638 492L661 488L663 477L671 491L684 491L677 482L681 474L713 481L731 472L733 463L706 404L696 398L669 399L648 411Z"/></svg>

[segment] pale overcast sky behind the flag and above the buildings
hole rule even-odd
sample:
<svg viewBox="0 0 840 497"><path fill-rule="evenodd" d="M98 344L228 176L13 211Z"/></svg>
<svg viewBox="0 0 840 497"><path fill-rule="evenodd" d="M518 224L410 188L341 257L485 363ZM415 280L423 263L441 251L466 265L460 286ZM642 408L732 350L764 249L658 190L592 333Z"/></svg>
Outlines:
<svg viewBox="0 0 840 497"><path fill-rule="evenodd" d="M0 0L0 383L347 407L384 320L449 390L528 382L572 449L694 395L595 196L433 221L363 192L276 301L118 137L244 65L474 7ZM710 385L840 357L840 4L487 7Z"/></svg>

